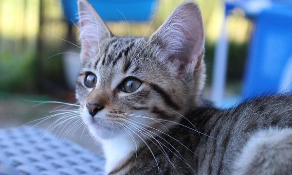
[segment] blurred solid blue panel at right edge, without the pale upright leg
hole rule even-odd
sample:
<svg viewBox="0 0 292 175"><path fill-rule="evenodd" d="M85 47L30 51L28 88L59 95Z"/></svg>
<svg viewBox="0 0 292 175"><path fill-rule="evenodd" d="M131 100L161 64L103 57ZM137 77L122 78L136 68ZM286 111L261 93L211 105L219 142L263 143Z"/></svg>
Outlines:
<svg viewBox="0 0 292 175"><path fill-rule="evenodd" d="M291 1L274 2L271 8L264 10L255 20L246 64L243 99L280 92L283 81L286 81L284 90L292 91Z"/></svg>

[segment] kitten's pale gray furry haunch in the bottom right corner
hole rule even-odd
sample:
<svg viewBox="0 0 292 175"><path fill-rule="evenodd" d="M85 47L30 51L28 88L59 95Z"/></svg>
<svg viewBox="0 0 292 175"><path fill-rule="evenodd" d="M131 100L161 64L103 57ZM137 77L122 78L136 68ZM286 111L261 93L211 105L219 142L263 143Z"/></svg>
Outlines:
<svg viewBox="0 0 292 175"><path fill-rule="evenodd" d="M257 131L239 153L233 175L291 173L292 129L271 127Z"/></svg>

